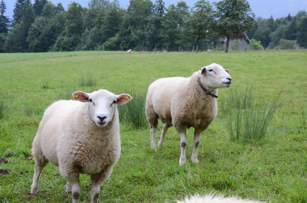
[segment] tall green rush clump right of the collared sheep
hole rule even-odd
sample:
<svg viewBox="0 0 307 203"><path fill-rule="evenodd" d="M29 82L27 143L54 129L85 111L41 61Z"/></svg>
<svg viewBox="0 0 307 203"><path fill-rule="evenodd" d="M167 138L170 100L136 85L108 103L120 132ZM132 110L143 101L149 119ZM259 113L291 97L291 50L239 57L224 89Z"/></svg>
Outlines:
<svg viewBox="0 0 307 203"><path fill-rule="evenodd" d="M280 106L279 97L273 101L254 105L254 91L251 88L239 91L229 91L227 105L223 105L227 114L227 128L230 140L250 143L262 139L269 127L274 113Z"/></svg>

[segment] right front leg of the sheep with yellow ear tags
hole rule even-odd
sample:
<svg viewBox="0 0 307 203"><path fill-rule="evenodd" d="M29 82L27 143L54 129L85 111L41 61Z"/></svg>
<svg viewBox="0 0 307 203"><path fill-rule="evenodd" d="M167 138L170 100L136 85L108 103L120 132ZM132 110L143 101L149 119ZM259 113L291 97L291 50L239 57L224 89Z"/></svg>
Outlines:
<svg viewBox="0 0 307 203"><path fill-rule="evenodd" d="M105 182L112 173L114 165L107 165L100 171L99 174L91 176L92 188L91 188L91 202L97 203L99 199L100 186Z"/></svg>

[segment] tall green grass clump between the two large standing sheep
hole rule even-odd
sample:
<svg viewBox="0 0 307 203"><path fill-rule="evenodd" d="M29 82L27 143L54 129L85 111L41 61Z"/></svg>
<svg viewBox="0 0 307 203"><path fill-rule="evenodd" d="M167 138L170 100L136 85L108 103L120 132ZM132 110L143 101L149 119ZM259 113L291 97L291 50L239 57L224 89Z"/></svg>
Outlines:
<svg viewBox="0 0 307 203"><path fill-rule="evenodd" d="M130 94L133 100L125 105L117 105L119 120L131 124L135 129L148 126L145 116L146 90L125 89L124 92Z"/></svg>

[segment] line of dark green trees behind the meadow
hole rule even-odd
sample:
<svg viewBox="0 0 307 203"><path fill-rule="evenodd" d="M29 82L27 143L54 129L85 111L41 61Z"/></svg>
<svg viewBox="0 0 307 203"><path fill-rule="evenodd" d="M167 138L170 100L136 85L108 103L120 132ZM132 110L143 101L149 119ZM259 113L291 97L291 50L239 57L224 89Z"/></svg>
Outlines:
<svg viewBox="0 0 307 203"><path fill-rule="evenodd" d="M220 37L241 38L243 33L266 48L280 39L297 40L307 48L307 15L274 20L258 18L246 0L199 0L192 8L184 1L165 8L163 0L119 2L90 0L88 7L72 2L67 10L47 0L17 0L13 18L4 15L0 1L0 52L49 52L75 50L195 51L221 48ZM259 42L260 44L260 42Z"/></svg>

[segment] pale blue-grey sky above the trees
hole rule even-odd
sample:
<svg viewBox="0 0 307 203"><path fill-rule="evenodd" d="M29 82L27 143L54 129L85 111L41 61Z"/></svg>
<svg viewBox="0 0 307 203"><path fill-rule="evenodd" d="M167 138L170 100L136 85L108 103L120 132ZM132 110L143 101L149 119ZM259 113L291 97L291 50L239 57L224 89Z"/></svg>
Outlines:
<svg viewBox="0 0 307 203"><path fill-rule="evenodd" d="M87 7L89 0L74 0L83 7ZM154 2L155 0L151 0ZM168 7L170 4L176 4L180 0L165 0L165 6ZM188 6L192 7L197 0L186 0ZM218 0L209 0L209 2L217 2ZM4 0L6 3L6 16L11 17L13 15L13 9L15 0ZM32 3L34 0L32 0ZM67 9L68 4L71 0L51 0L53 4L61 2ZM251 9L255 13L256 17L269 18L271 15L276 18L285 17L290 13L295 15L299 10L307 10L307 0L249 0ZM120 6L127 8L129 0L119 0Z"/></svg>

